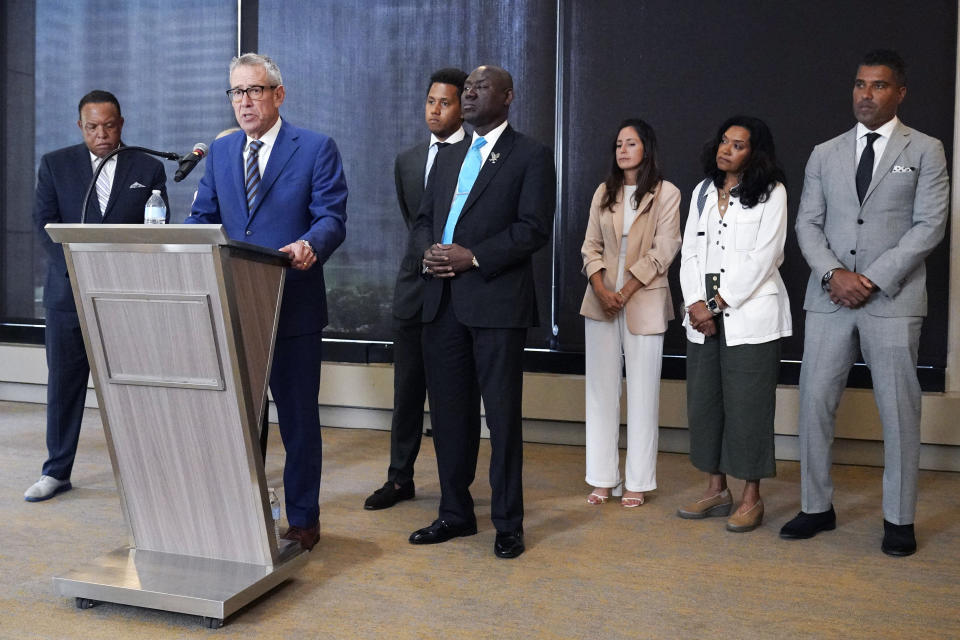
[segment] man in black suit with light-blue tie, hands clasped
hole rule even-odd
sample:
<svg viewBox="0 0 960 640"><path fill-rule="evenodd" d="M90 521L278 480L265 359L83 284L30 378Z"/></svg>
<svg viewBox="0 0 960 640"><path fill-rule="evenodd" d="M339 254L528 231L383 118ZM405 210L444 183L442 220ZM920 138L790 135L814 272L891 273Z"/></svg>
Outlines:
<svg viewBox="0 0 960 640"><path fill-rule="evenodd" d="M550 238L553 154L507 123L513 79L475 69L463 87L474 133L437 154L410 249L423 256L423 342L440 510L412 544L477 532L470 484L480 444L480 400L490 430L494 553L514 558L523 540L523 348L537 323L534 252Z"/></svg>

